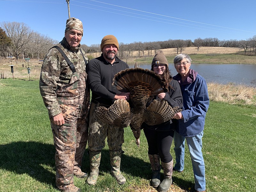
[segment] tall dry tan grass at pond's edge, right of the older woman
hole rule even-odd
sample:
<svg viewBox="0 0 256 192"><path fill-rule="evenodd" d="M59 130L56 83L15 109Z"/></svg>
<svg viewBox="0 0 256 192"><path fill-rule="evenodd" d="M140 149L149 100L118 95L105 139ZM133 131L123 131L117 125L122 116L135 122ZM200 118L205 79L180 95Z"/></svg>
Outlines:
<svg viewBox="0 0 256 192"><path fill-rule="evenodd" d="M237 84L208 83L210 100L256 106L256 88Z"/></svg>

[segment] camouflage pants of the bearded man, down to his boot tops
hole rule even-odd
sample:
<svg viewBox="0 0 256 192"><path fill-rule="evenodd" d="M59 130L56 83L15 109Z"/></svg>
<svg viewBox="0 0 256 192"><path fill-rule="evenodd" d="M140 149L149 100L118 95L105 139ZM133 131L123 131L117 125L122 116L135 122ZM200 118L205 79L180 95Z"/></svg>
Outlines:
<svg viewBox="0 0 256 192"><path fill-rule="evenodd" d="M105 147L107 139L109 150L117 151L122 149L124 143L124 129L109 125L101 121L95 114L100 103L91 103L89 120L88 148L90 151L100 151Z"/></svg>

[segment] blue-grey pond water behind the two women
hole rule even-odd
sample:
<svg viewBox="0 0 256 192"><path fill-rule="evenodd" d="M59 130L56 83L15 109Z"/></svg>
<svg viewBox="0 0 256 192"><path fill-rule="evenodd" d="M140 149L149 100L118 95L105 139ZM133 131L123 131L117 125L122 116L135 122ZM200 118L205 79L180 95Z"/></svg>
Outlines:
<svg viewBox="0 0 256 192"><path fill-rule="evenodd" d="M134 64L129 65L130 68L134 67ZM140 64L141 68L151 69L151 64ZM204 64L204 63L192 63L190 66L203 76L206 82L214 82L220 84L236 83L246 84L252 86L251 81L256 79L256 64ZM176 75L177 71L174 68L173 63L169 63L169 69L172 75Z"/></svg>

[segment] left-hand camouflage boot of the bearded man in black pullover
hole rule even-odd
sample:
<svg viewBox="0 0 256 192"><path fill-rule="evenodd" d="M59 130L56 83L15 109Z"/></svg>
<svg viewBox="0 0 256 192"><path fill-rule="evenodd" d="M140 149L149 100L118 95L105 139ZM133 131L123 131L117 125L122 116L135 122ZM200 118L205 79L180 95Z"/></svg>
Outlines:
<svg viewBox="0 0 256 192"><path fill-rule="evenodd" d="M91 172L88 176L87 183L89 185L95 185L99 175L101 152L90 151L90 169Z"/></svg>

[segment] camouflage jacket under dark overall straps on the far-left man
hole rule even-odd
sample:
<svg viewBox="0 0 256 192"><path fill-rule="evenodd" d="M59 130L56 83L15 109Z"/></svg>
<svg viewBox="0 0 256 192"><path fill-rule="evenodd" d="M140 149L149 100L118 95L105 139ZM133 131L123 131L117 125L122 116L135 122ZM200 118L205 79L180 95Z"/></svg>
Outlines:
<svg viewBox="0 0 256 192"><path fill-rule="evenodd" d="M71 47L66 41L65 37L59 44L57 44L57 46L59 46L67 55L68 59L73 62L77 74L85 74L86 66L84 58L79 49ZM78 47L80 47L80 45ZM83 54L85 59L88 61L84 51ZM60 114L61 111L59 104L61 96L57 95L57 92L60 88L70 84L70 78L72 75L73 72L61 53L56 48L50 49L44 58L43 66L41 69L39 88L44 101L44 105L48 109L48 112L51 116Z"/></svg>

